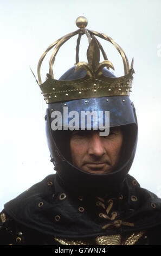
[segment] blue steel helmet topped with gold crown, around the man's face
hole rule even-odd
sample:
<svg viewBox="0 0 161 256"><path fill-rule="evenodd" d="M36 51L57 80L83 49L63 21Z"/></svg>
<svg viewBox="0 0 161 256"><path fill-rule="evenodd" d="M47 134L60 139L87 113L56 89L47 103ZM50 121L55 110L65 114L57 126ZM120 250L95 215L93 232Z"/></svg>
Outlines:
<svg viewBox="0 0 161 256"><path fill-rule="evenodd" d="M79 27L77 31L56 40L47 48L38 62L38 81L36 81L40 86L44 100L48 104L45 120L51 162L54 163L57 179L68 190L78 191L81 194L118 191L131 168L137 147L137 117L129 97L134 73L133 60L130 68L123 49L109 36L86 29L87 19L85 17L78 17L76 25ZM76 34L78 34L76 63L59 80L55 80L53 64L57 51L63 43ZM83 34L87 35L89 42L88 63L79 62L79 45ZM113 64L107 59L107 55L96 36L110 41L117 48L123 59L124 76L115 77L109 71L110 68L114 69ZM48 51L53 47L49 74L47 74L47 80L42 83L41 64ZM104 61L101 63L100 52L104 57ZM77 113L109 111L110 123L108 126L121 127L124 136L123 148L121 149L120 162L113 172L107 174L87 173L72 164L69 150L72 129L69 129L71 118L68 117L68 113L72 111ZM95 123L94 120L92 121L91 129L94 129ZM52 125L56 123L57 129L53 129ZM105 124L105 120L103 123ZM87 129L87 125L85 123L84 129ZM96 125L99 127L99 119L96 120ZM76 129L81 129L80 119Z"/></svg>

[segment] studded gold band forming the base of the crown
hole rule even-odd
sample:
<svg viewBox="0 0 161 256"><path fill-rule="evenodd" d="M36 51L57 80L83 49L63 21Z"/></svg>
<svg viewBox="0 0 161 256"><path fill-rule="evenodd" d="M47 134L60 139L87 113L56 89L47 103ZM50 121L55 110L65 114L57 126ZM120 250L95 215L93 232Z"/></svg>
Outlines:
<svg viewBox="0 0 161 256"><path fill-rule="evenodd" d="M60 81L48 75L48 80L40 86L40 89L46 103L92 97L130 96L133 72L132 69L129 74L115 78L101 76L95 78L95 81L88 76L77 80Z"/></svg>

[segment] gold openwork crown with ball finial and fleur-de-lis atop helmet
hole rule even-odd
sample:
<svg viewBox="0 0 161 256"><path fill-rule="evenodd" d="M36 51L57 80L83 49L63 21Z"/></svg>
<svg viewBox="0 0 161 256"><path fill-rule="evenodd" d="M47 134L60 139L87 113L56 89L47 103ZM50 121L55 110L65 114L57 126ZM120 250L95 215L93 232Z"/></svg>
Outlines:
<svg viewBox="0 0 161 256"><path fill-rule="evenodd" d="M87 19L85 17L78 17L76 19L76 25L79 29L73 33L67 34L56 40L51 44L47 50L42 54L38 66L38 85L42 91L44 99L47 103L54 103L59 101L76 100L76 99L86 99L89 97L102 97L102 96L129 96L132 87L133 79L133 59L131 63L131 68L128 64L128 59L122 50L122 48L113 41L110 36L95 31L89 31L85 27L87 26ZM85 69L87 75L83 78L76 80L60 81L55 80L53 75L53 64L55 56L59 51L59 48L72 36L78 34L78 40L76 45L76 63L75 72L79 69ZM87 50L87 60L86 62L79 62L79 45L80 39L83 34L87 35L89 46ZM107 55L102 48L100 42L95 38L99 36L102 39L110 41L115 48L117 48L120 53L123 64L124 64L124 76L121 77L106 77L102 74L102 69L106 66L107 69L112 68L114 70L113 64L107 59ZM54 47L55 46L55 47ZM42 83L40 69L41 64L46 56L46 54L54 47L54 51L51 54L49 62L49 74L47 74L47 80ZM100 51L104 57L104 61L100 63ZM33 71L32 71L33 72ZM34 73L33 73L34 75ZM35 76L35 75L34 75ZM36 78L36 77L35 77Z"/></svg>

